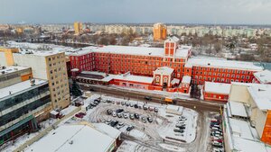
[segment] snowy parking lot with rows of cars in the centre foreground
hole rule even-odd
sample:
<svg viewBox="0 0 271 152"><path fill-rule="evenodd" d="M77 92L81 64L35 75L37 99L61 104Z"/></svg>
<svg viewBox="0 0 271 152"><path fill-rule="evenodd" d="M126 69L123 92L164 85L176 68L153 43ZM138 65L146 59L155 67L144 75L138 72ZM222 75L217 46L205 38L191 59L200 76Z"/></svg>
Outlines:
<svg viewBox="0 0 271 152"><path fill-rule="evenodd" d="M99 99L98 99L99 98ZM92 96L85 101L89 109L85 115L75 116L72 121L106 123L121 130L123 144L118 152L138 151L198 151L193 145L200 142L199 113L182 108L182 114L166 112L167 105L128 101L110 96ZM208 135L209 132L205 132ZM206 138L204 142L210 143ZM136 150L137 149L137 150Z"/></svg>

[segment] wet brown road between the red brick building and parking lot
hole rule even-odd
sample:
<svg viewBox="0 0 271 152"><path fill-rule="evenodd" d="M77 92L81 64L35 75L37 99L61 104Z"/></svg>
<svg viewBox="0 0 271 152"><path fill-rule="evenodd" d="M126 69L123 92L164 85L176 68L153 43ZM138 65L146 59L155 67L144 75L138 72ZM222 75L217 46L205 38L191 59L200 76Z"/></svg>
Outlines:
<svg viewBox="0 0 271 152"><path fill-rule="evenodd" d="M144 93L141 91L123 89L119 87L112 87L107 85L89 85L89 84L82 84L79 83L80 88L84 91L89 91L90 88L92 91L98 92L100 94L113 94L115 96L119 96L122 98L132 98L136 100L141 100L145 102L153 102L153 103L165 103L165 95L163 94L150 94ZM88 86L86 86L88 85ZM152 101L145 100L145 96L152 97ZM181 105L186 108L194 109L195 111L201 112L220 112L220 106L223 104L219 103L208 103L208 102L201 102L195 100L183 100L183 99L175 99L176 105Z"/></svg>

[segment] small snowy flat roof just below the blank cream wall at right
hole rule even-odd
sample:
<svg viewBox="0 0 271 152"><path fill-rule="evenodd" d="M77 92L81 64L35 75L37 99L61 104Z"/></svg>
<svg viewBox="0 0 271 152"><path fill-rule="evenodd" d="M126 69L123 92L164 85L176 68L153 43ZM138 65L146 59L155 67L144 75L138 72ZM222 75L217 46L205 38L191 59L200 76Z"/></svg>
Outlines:
<svg viewBox="0 0 271 152"><path fill-rule="evenodd" d="M248 117L244 103L229 101L229 109L233 116Z"/></svg>

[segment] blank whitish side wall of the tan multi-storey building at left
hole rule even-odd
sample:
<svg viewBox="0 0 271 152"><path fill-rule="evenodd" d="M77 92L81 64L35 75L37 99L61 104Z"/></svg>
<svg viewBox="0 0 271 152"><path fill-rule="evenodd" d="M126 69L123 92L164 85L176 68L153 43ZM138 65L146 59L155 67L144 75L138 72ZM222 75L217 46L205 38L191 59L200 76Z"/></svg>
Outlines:
<svg viewBox="0 0 271 152"><path fill-rule="evenodd" d="M27 56L27 57L25 57ZM46 74L46 63L43 56L34 56L30 54L18 54L14 53L14 62L18 66L32 67L33 77L48 80Z"/></svg>

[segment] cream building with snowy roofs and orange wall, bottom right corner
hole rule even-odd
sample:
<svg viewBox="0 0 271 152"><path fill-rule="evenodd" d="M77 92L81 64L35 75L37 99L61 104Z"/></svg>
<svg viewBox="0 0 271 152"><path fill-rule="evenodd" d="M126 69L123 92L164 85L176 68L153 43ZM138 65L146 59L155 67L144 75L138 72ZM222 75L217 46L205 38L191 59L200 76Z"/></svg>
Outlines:
<svg viewBox="0 0 271 152"><path fill-rule="evenodd" d="M226 151L270 150L271 85L232 83L224 107Z"/></svg>

